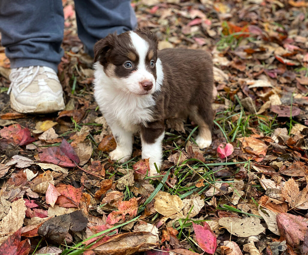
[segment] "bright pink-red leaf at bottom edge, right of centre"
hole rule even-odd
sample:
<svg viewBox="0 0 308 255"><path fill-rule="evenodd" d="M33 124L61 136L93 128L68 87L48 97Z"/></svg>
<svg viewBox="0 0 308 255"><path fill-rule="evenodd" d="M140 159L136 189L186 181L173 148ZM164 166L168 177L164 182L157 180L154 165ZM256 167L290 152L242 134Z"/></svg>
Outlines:
<svg viewBox="0 0 308 255"><path fill-rule="evenodd" d="M198 245L207 253L213 254L217 248L216 235L209 224L204 222L204 227L193 223Z"/></svg>

